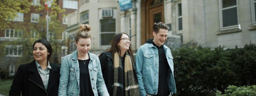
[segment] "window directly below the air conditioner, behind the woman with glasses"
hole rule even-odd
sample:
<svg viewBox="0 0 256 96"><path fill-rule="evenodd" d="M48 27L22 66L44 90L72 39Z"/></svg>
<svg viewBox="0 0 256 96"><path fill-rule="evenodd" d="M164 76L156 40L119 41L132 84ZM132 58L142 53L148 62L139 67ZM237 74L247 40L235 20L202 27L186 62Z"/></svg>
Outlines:
<svg viewBox="0 0 256 96"><path fill-rule="evenodd" d="M116 19L100 20L100 45L110 45L110 41L116 34Z"/></svg>

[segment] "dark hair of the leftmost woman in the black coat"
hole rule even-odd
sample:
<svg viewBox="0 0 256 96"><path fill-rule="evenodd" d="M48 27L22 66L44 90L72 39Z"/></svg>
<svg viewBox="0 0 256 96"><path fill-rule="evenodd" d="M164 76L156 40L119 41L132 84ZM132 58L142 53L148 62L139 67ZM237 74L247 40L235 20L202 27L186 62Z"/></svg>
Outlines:
<svg viewBox="0 0 256 96"><path fill-rule="evenodd" d="M49 60L49 58L51 58L51 55L52 55L52 45L46 39L38 39L34 42L33 49L36 43L42 43L46 47L47 52L49 52L49 55L47 56L47 60Z"/></svg>

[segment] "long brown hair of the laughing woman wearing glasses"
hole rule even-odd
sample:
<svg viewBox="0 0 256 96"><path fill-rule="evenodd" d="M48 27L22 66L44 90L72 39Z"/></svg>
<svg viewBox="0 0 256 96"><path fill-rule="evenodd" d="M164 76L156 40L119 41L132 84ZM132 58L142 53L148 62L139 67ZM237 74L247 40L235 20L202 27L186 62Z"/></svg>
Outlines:
<svg viewBox="0 0 256 96"><path fill-rule="evenodd" d="M113 60L114 60L114 54L115 54L115 52L118 52L118 54L121 56L121 50L120 50L120 48L119 48L119 46L118 46L118 42L120 42L120 40L121 40L121 37L122 37L122 35L123 34L126 34L126 33L117 33L115 36L113 36L113 39L112 39L112 42L111 42L111 47L107 50L107 51L105 51L105 52L111 52L112 53L112 58L113 58ZM126 34L128 37L129 37L129 35L128 34ZM129 37L130 38L130 37ZM132 60L133 60L133 62L135 62L134 61L134 56L133 56L133 52L132 52L132 48L131 48L131 44L130 44L130 46L129 46L129 50L127 50L127 52L132 56ZM101 53L102 54L102 53ZM100 54L100 55L101 55ZM125 54L124 54L125 55Z"/></svg>

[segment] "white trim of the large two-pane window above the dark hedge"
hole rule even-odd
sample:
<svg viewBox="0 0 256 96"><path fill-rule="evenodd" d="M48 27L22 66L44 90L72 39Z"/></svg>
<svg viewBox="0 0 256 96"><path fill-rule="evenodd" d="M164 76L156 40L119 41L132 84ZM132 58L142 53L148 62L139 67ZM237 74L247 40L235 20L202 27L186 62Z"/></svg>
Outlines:
<svg viewBox="0 0 256 96"><path fill-rule="evenodd" d="M223 21L222 21L222 10L225 9L230 9L230 8L234 8L236 7L236 11L237 11L237 25L233 25L233 26L228 26L228 27L223 27ZM222 8L222 0L219 0L219 17L220 17L220 30L228 30L228 29L233 29L233 28L237 28L239 25L239 17L238 17L238 2L236 0L236 5L227 7L227 8Z"/></svg>

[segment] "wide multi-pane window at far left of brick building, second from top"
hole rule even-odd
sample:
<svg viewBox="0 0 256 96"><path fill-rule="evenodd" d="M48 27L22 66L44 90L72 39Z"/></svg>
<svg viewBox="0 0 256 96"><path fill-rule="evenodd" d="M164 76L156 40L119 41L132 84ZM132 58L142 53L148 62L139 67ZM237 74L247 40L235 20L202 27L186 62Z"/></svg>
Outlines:
<svg viewBox="0 0 256 96"><path fill-rule="evenodd" d="M22 30L5 29L5 37L18 38L22 37Z"/></svg>

